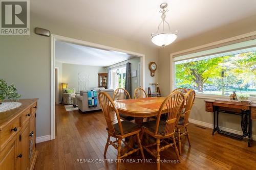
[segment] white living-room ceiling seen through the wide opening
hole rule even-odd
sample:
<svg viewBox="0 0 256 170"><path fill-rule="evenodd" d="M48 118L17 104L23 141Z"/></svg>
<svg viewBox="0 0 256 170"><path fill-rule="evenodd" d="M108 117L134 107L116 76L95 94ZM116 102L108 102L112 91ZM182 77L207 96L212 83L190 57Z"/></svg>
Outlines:
<svg viewBox="0 0 256 170"><path fill-rule="evenodd" d="M56 41L55 45L55 60L61 63L110 66L134 57L126 53L106 51L62 41Z"/></svg>

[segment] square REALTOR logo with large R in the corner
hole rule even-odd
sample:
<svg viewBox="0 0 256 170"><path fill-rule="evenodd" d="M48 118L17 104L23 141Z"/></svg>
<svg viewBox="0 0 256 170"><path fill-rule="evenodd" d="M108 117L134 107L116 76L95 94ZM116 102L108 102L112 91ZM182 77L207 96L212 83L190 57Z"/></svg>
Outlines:
<svg viewBox="0 0 256 170"><path fill-rule="evenodd" d="M29 0L0 1L0 35L30 35Z"/></svg>

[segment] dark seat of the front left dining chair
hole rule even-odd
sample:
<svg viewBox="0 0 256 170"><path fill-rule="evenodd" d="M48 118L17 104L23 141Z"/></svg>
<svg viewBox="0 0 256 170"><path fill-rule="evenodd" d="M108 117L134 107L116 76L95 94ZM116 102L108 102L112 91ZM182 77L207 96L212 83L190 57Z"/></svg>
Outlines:
<svg viewBox="0 0 256 170"><path fill-rule="evenodd" d="M130 122L128 120L123 120L121 122L121 124L122 124L122 127L123 127L123 134L130 133L130 132L133 132L135 130L140 129L140 126L138 124L135 124L135 123ZM116 134L121 134L121 132L119 130L118 123L114 124L113 127L115 129Z"/></svg>

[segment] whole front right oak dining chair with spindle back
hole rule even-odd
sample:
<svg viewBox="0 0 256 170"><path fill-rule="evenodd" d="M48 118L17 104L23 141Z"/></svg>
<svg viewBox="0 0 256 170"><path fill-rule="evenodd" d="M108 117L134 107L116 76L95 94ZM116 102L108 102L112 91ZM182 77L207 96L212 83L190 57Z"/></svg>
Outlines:
<svg viewBox="0 0 256 170"><path fill-rule="evenodd" d="M144 133L156 139L155 143L144 145L143 148L157 159L157 169L160 169L160 152L169 147L175 149L178 160L180 161L179 151L175 141L175 127L178 123L179 114L184 107L185 96L181 92L171 93L161 104L157 119L150 122L144 122L141 127L141 138ZM160 119L161 114L167 113L167 120ZM172 140L169 140L172 138ZM160 141L161 140L161 141ZM171 142L172 141L172 142ZM164 145L160 148L160 143ZM157 149L154 149L157 145ZM154 147L152 149L152 147Z"/></svg>

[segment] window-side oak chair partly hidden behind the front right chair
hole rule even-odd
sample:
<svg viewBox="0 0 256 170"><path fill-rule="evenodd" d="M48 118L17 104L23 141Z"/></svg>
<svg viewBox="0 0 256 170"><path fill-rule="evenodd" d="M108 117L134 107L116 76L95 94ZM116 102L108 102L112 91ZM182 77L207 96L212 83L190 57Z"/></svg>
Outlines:
<svg viewBox="0 0 256 170"><path fill-rule="evenodd" d="M185 94L185 101L186 101L185 111L184 111L184 113L182 113L180 115L179 122L176 126L177 131L178 131L177 133L178 133L178 143L179 143L179 153L180 153L180 155L181 155L181 136L185 135L187 137L189 147L191 146L187 126L188 126L189 114L190 114L191 108L192 108L192 106L194 105L194 102L195 102L195 97L196 97L196 92L193 89L190 89ZM181 129L184 129L184 128L185 128L185 131L181 133Z"/></svg>

